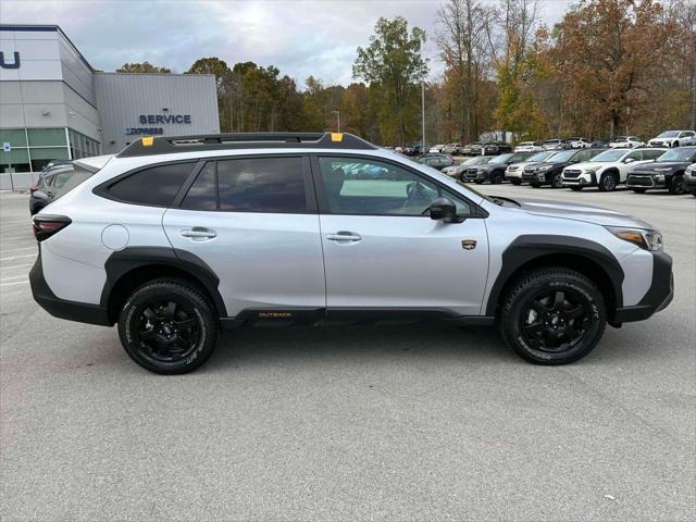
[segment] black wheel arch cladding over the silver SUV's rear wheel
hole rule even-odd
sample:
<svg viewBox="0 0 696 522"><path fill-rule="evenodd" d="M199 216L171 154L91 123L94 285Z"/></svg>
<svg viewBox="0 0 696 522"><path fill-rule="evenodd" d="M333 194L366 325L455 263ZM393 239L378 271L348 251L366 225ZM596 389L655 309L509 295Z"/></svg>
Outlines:
<svg viewBox="0 0 696 522"><path fill-rule="evenodd" d="M109 306L112 290L123 276L149 265L165 265L187 273L209 294L217 315L227 315L225 302L217 289L220 278L213 270L198 256L171 247L127 247L114 251L104 263L107 282L101 293L101 306Z"/></svg>

